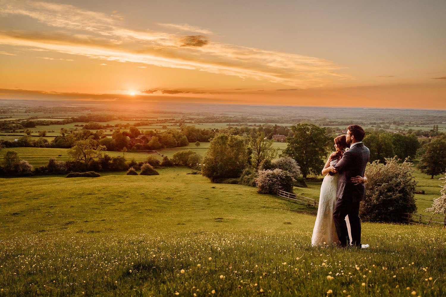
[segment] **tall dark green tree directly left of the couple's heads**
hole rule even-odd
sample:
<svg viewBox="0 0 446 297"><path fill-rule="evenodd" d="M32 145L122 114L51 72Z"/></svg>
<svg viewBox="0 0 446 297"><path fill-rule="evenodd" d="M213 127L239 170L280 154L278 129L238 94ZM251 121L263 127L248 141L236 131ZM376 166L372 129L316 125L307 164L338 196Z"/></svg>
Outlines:
<svg viewBox="0 0 446 297"><path fill-rule="evenodd" d="M291 126L291 131L293 136L286 138L288 146L283 155L296 160L304 178L310 173L319 174L325 163L322 158L327 155L330 144L325 128L303 123Z"/></svg>

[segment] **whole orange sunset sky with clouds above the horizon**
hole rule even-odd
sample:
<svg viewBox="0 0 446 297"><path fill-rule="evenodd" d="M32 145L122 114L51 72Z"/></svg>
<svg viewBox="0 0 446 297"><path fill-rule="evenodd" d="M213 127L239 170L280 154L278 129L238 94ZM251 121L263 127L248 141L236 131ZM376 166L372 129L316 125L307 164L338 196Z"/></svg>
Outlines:
<svg viewBox="0 0 446 297"><path fill-rule="evenodd" d="M0 0L0 100L446 109L444 0Z"/></svg>

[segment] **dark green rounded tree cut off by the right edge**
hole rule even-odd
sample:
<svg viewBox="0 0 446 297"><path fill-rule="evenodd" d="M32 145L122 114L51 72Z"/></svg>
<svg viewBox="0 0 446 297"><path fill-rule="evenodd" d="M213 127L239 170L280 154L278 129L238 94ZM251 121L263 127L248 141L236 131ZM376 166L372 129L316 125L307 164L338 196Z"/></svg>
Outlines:
<svg viewBox="0 0 446 297"><path fill-rule="evenodd" d="M446 140L435 138L431 142L426 143L421 149L422 156L418 168L421 172L430 175L434 179L434 175L444 173L446 170Z"/></svg>

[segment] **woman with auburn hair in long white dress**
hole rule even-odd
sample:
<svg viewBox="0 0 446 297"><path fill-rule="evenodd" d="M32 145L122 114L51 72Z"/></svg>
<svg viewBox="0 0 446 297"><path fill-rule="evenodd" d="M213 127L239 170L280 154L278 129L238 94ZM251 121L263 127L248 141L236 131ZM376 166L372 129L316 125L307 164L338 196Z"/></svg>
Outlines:
<svg viewBox="0 0 446 297"><path fill-rule="evenodd" d="M333 221L333 209L336 203L336 189L338 187L339 176L330 171L329 167L335 165L341 158L348 147L345 135L340 135L335 138L336 151L331 153L328 158L322 175L325 175L322 181L321 193L319 195L318 215L316 216L316 223L314 223L313 236L311 236L311 245L335 244L338 242L338 235L336 234L335 222ZM365 183L367 178L364 176L356 176L351 178L354 183ZM345 218L347 222L348 236L351 242L350 222L348 216Z"/></svg>

